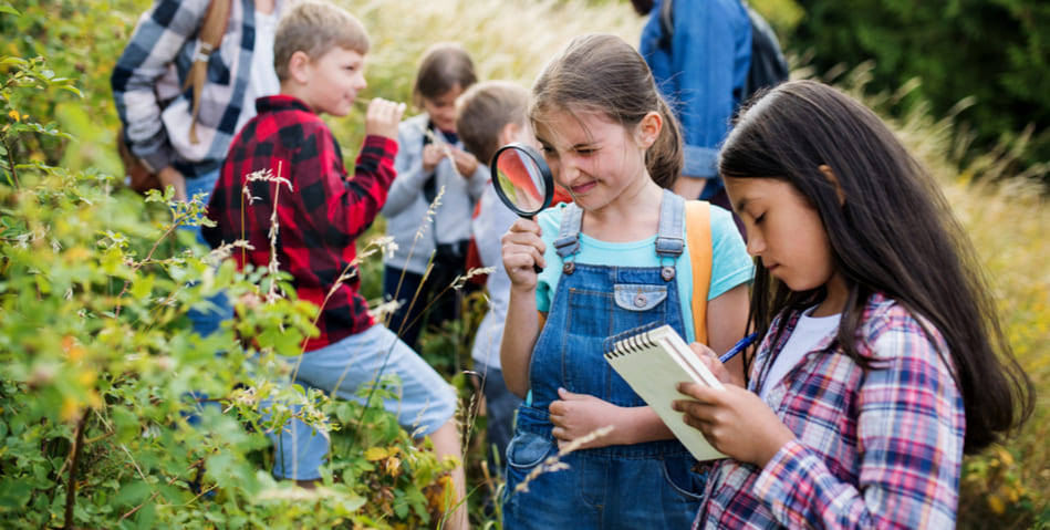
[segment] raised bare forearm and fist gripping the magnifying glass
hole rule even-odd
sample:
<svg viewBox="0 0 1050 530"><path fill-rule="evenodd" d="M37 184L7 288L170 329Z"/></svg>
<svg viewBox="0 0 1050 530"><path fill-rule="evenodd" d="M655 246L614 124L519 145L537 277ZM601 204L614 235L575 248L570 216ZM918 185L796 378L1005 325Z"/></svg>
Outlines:
<svg viewBox="0 0 1050 530"><path fill-rule="evenodd" d="M500 364L507 388L520 397L529 392L529 362L540 335L540 318L536 304L539 280L533 267L545 267L547 246L540 239L540 226L530 219L518 219L502 238L503 269L510 277L510 303L499 346Z"/></svg>

